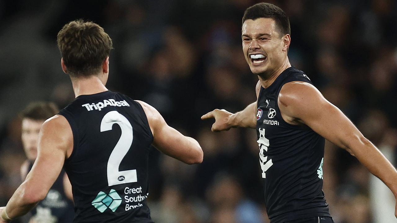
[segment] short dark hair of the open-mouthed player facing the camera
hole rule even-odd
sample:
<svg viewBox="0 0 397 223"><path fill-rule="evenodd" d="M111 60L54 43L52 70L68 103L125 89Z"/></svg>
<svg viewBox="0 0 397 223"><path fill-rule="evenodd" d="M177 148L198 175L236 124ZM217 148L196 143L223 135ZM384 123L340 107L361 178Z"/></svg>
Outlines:
<svg viewBox="0 0 397 223"><path fill-rule="evenodd" d="M276 26L282 35L291 35L289 18L280 7L266 2L255 4L245 10L242 23L244 23L247 19L255 20L258 18L274 19Z"/></svg>

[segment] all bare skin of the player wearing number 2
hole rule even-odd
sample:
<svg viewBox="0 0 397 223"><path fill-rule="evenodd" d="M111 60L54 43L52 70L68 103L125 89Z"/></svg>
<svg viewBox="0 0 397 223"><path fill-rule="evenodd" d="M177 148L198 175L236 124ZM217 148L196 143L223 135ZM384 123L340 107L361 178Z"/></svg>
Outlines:
<svg viewBox="0 0 397 223"><path fill-rule="evenodd" d="M62 70L68 73L63 58L61 66ZM109 57L102 63L100 73L84 78L71 77L75 96L108 90L105 87L108 71ZM148 118L154 137L153 145L158 150L188 164L202 162L203 152L195 139L184 136L168 126L164 118L152 106L141 101L139 103L143 106ZM39 133L37 159L25 181L17 188L6 207L0 208L0 223L9 222L10 219L24 215L46 197L72 150L73 134L66 118L62 115L55 115L46 120Z"/></svg>

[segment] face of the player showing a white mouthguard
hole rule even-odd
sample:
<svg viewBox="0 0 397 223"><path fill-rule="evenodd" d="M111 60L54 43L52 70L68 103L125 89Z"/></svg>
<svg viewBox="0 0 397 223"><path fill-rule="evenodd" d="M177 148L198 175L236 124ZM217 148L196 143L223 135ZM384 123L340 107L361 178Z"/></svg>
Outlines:
<svg viewBox="0 0 397 223"><path fill-rule="evenodd" d="M290 37L279 32L274 19L247 19L241 32L245 60L252 73L267 79L287 62Z"/></svg>

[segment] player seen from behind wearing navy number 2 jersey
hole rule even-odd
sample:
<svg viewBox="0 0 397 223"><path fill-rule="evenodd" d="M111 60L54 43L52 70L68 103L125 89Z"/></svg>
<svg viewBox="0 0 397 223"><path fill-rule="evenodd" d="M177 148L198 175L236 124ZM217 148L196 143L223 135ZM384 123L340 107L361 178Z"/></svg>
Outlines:
<svg viewBox="0 0 397 223"><path fill-rule="evenodd" d="M112 40L102 27L71 21L58 33L58 48L76 98L42 125L35 164L0 209L0 223L44 199L62 167L72 185L74 223L152 223L146 204L150 145L189 164L202 162L200 145L168 126L152 106L105 87Z"/></svg>

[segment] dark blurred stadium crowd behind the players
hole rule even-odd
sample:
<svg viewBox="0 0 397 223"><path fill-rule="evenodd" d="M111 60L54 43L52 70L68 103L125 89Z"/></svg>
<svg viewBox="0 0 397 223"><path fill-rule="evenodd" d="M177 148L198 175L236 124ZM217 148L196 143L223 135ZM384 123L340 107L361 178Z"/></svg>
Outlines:
<svg viewBox="0 0 397 223"><path fill-rule="evenodd" d="M0 0L0 206L21 183L21 120L33 100L73 100L56 34L83 18L114 43L107 87L144 100L198 139L200 165L152 150L149 206L159 223L268 222L252 129L212 133L200 116L242 110L257 77L241 50L254 0ZM396 163L397 4L393 0L269 1L287 12L289 59ZM324 192L335 223L395 223L394 197L347 152L326 144ZM15 221L17 222L17 221Z"/></svg>

